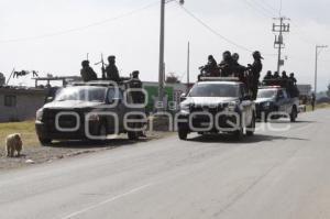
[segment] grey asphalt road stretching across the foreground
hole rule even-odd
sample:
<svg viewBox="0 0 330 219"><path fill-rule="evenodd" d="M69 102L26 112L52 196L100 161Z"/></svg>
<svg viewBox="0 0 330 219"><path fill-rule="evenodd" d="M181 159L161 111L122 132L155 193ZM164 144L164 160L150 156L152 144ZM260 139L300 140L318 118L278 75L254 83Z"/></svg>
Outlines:
<svg viewBox="0 0 330 219"><path fill-rule="evenodd" d="M319 110L239 143L174 135L0 173L0 218L328 219L329 127Z"/></svg>

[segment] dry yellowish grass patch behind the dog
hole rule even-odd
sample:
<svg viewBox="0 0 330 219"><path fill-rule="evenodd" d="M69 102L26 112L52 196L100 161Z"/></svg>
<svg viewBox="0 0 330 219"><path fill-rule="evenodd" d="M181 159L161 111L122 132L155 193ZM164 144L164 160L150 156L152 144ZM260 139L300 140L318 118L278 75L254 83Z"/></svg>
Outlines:
<svg viewBox="0 0 330 219"><path fill-rule="evenodd" d="M35 133L34 121L0 123L0 145L6 141L6 136L12 133L21 133L24 146L40 146Z"/></svg>

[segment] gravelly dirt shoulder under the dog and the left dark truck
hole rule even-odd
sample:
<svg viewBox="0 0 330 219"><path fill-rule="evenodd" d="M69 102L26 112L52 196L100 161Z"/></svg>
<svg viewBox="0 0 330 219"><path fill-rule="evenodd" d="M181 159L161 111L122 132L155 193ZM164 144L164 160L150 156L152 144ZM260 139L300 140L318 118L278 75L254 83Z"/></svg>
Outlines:
<svg viewBox="0 0 330 219"><path fill-rule="evenodd" d="M7 132L9 131L10 130L7 130ZM24 142L23 151L20 157L7 157L4 142L3 142L3 146L0 147L0 172L6 169L42 164L46 162L55 162L62 158L78 156L86 153L100 152L103 150L111 150L118 146L133 145L139 142L154 141L170 134L173 133L148 132L146 139L141 139L138 142L128 140L127 135L120 135L118 136L118 139L109 140L106 141L105 143L96 143L96 142L87 142L87 141L70 141L70 142L54 142L50 146L41 146L40 143L36 141L36 136L34 136L34 133L26 132L25 134L24 133L22 134L23 141L24 139L26 139L26 141ZM4 135L4 134L1 133L0 135Z"/></svg>

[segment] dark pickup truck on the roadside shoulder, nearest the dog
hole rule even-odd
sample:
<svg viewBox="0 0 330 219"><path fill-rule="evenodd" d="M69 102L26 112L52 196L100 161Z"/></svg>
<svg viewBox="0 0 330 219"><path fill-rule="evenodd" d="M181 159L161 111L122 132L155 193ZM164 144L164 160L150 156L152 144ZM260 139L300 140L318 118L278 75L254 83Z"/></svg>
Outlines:
<svg viewBox="0 0 330 219"><path fill-rule="evenodd" d="M77 83L62 88L36 112L40 142L44 145L53 140L105 140L108 134L120 133L136 140L139 131L127 128L142 124L124 125L124 118L132 113L129 119L140 119L144 109L127 105L132 105L132 97L124 90L124 86L112 86L111 81Z"/></svg>

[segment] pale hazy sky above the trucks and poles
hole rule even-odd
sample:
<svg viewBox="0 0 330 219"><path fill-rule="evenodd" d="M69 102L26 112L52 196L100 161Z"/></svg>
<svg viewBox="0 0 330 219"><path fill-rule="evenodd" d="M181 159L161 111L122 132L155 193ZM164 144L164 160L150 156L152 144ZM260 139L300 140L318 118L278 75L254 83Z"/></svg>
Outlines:
<svg viewBox="0 0 330 219"><path fill-rule="evenodd" d="M118 56L122 75L140 69L142 79L157 80L160 0L1 0L0 72L36 69L41 75L78 75L80 62L89 53L91 63L100 53ZM52 37L37 37L127 14L132 15L79 29ZM186 0L185 8L218 33L265 54L264 72L276 68L273 48L273 17L278 17L279 0ZM315 45L330 45L330 2L327 0L283 0L282 14L292 19L292 32L285 35L287 56L284 69L295 72L298 80L314 84ZM19 41L8 41L16 40ZM185 80L186 47L191 43L191 77L198 66L213 54L220 61L226 50L238 52L241 64L252 62L251 52L240 50L205 29L175 2L166 6L166 72ZM330 83L330 50L320 55L319 86ZM96 72L100 73L98 66ZM15 84L33 85L28 78Z"/></svg>

